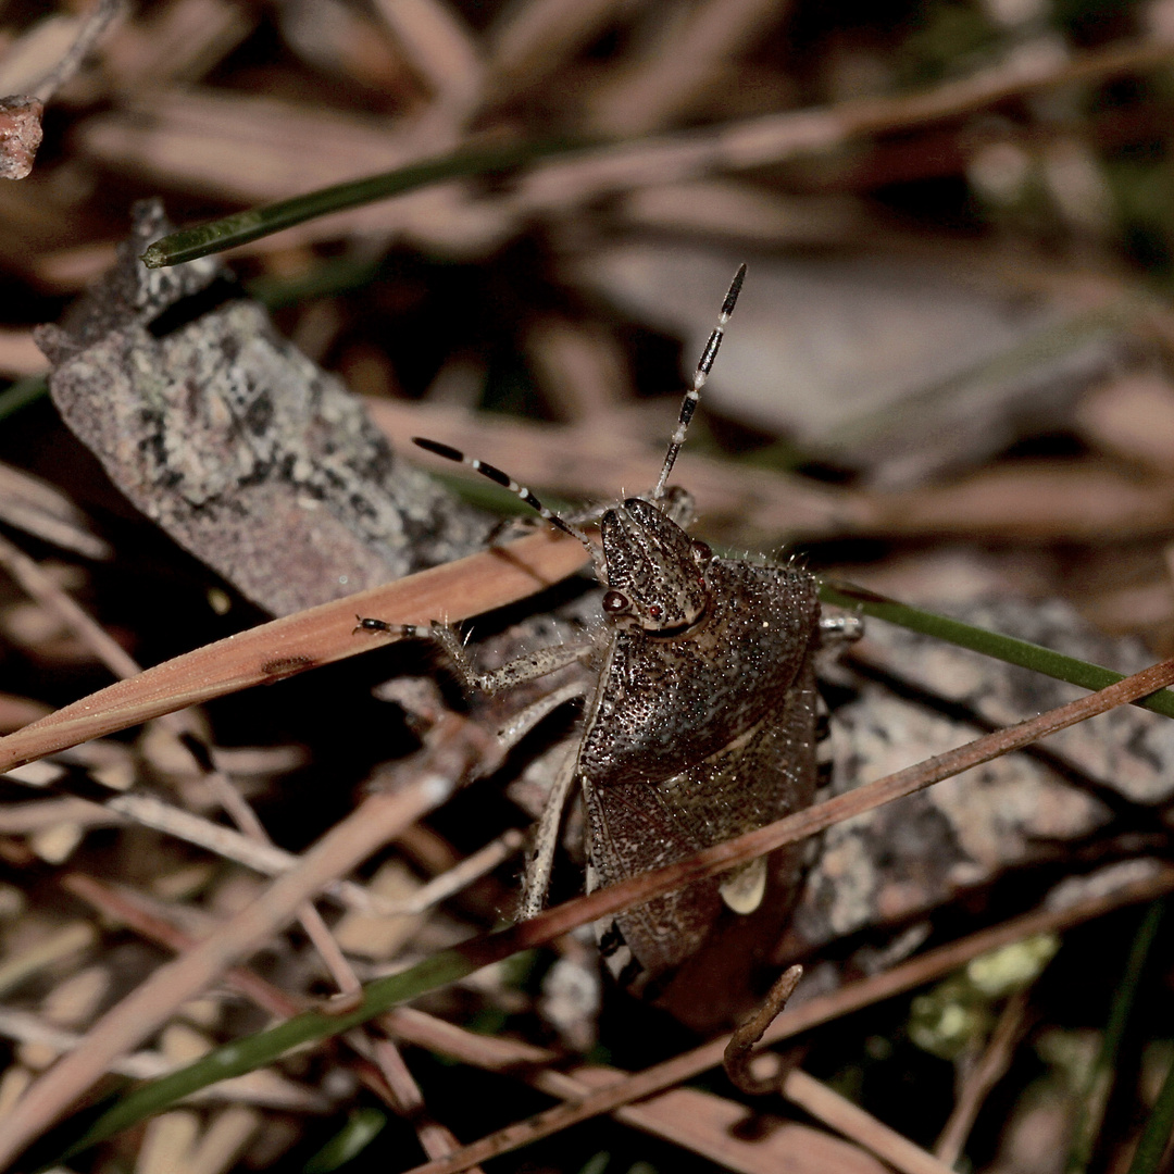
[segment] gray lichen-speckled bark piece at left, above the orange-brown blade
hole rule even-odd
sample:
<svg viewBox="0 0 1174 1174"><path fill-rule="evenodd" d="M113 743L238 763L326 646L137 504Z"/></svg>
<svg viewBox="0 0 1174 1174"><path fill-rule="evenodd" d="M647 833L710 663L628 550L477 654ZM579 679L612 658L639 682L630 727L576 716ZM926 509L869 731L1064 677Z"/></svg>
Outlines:
<svg viewBox="0 0 1174 1174"><path fill-rule="evenodd" d="M396 458L257 303L216 299L218 262L142 264L168 231L139 205L116 266L36 332L58 410L130 501L275 615L479 548L483 514Z"/></svg>

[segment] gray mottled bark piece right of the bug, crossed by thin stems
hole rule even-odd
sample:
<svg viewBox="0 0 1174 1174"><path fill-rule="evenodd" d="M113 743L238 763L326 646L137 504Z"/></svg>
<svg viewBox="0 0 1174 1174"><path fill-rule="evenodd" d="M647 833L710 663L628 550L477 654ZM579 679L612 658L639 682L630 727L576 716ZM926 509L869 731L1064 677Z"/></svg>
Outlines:
<svg viewBox="0 0 1174 1174"><path fill-rule="evenodd" d="M1092 630L1058 601L932 609L1121 673L1154 660L1136 641ZM1087 693L880 621L869 622L858 655L974 721L898 697L884 683L857 681L857 696L831 721L836 792ZM845 661L836 676L846 682L849 674ZM1174 794L1174 722L1135 706L1054 734L1040 749L1043 756L1006 755L829 829L782 952L802 954L871 926L908 922L1051 857L1059 845L1111 835L1105 792L1147 807Z"/></svg>

